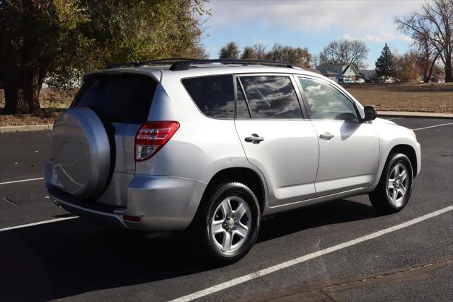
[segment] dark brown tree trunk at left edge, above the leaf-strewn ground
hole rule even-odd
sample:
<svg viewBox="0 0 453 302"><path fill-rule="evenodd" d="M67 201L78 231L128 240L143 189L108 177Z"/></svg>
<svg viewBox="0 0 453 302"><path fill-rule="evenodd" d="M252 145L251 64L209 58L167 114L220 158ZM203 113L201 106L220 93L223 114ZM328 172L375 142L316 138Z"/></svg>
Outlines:
<svg viewBox="0 0 453 302"><path fill-rule="evenodd" d="M39 95L42 79L37 71L23 72L20 78L8 79L5 86L7 114L36 113L40 109Z"/></svg>

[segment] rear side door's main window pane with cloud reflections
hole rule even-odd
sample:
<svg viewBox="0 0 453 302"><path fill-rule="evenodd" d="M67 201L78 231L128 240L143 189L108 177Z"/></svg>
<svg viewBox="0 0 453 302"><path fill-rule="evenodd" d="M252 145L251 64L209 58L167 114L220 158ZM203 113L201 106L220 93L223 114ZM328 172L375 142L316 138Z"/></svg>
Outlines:
<svg viewBox="0 0 453 302"><path fill-rule="evenodd" d="M252 118L302 118L289 77L241 77L241 82Z"/></svg>

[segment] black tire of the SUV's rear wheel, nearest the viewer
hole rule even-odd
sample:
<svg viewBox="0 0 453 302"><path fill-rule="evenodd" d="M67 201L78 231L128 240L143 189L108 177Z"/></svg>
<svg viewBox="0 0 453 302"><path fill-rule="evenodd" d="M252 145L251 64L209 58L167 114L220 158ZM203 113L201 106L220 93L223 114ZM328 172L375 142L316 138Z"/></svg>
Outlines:
<svg viewBox="0 0 453 302"><path fill-rule="evenodd" d="M201 255L206 256L213 264L226 265L237 262L247 255L258 237L261 219L258 199L248 186L239 182L219 184L206 195L207 196L205 196L200 204L200 208L197 211L197 215L191 227L191 235L193 239L199 243L195 248L198 252L201 252ZM229 196L237 196L241 198L242 201L246 202L248 210L251 212L251 226L248 230L248 236L246 236L246 239L241 243L237 250L224 252L217 247L214 242L211 223L214 219L214 215L216 213L219 215L219 212L216 211L217 207L219 207L220 203ZM214 211L216 211L216 213L214 213ZM248 219L248 217L246 218ZM222 220L222 218L220 220ZM234 235L231 235L231 237L234 237Z"/></svg>

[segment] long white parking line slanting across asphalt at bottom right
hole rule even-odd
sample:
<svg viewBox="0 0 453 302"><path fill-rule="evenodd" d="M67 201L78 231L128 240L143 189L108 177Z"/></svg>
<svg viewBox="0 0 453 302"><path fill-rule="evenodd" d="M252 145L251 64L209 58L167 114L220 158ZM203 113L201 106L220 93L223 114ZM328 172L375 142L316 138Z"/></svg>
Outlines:
<svg viewBox="0 0 453 302"><path fill-rule="evenodd" d="M446 212L452 211L452 210L453 210L453 206L447 206L447 208L442 208L439 211L435 211L435 212L429 213L429 214L427 214L425 216L420 216L420 217L415 218L413 220L406 221L406 223L400 223L398 225L394 225L391 228L386 228L384 230L379 230L379 231L377 231L375 233L371 233L369 235L358 237L357 239L350 240L350 241L347 241L347 242L343 242L343 243L340 243L339 245L334 245L333 247L328 247L328 248L326 248L324 250L319 250L318 252L313 252L311 254L304 255L304 256L298 257L296 259L289 260L287 262L282 262L282 263L276 264L276 265L274 265L272 267L268 267L267 269L260 269L257 272L253 272L251 274L246 274L244 276L240 276L239 278L232 279L230 281L226 281L224 283L214 285L214 286L209 287L207 289L203 289L202 291L197 291L195 293L190 293L187 296L183 296L183 297L177 298L177 299L172 300L172 301L192 301L192 300L197 299L197 298L202 298L204 296L210 295L211 293L217 293L217 291L222 291L224 289L228 289L231 286L242 284L242 283L244 283L246 281L251 281L253 279L259 278L260 276L265 276L267 274L280 271L280 269L286 269L287 267L292 267L295 264L300 264L300 263L306 262L306 261L308 261L310 259L314 259L316 257L320 257L320 256L323 256L323 255L329 254L331 252L335 252L335 251L344 249L346 247L350 247L352 245L357 245L360 242L371 240L373 238L376 238L376 237L379 237L379 236L394 232L396 230L401 230L402 228L407 228L410 225L414 225L415 223L420 223L423 220L427 220L427 219L433 218L433 217L438 216L438 215L440 215L442 213L446 213Z"/></svg>

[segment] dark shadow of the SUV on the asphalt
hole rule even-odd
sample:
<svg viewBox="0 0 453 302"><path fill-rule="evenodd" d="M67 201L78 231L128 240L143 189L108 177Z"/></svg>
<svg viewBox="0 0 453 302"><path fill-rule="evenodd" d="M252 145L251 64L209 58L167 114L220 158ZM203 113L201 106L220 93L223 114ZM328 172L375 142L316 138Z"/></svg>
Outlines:
<svg viewBox="0 0 453 302"><path fill-rule="evenodd" d="M333 201L263 220L258 242L375 216L365 204ZM183 234L150 240L83 218L0 232L0 300L47 301L215 268L190 245Z"/></svg>

